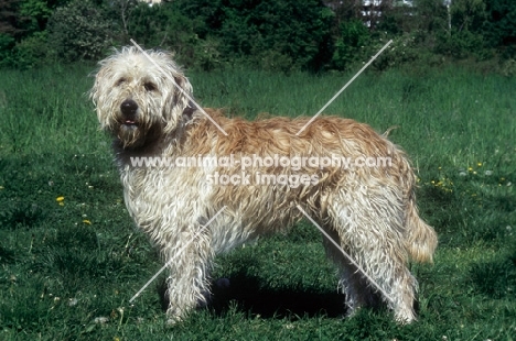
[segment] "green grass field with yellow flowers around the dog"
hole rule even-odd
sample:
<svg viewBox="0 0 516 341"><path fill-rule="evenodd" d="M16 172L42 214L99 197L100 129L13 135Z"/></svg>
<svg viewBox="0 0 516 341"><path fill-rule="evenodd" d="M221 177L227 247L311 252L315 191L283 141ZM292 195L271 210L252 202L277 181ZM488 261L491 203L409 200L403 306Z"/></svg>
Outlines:
<svg viewBox="0 0 516 341"><path fill-rule="evenodd" d="M93 67L1 72L0 340L514 340L516 79L461 69L362 75L326 113L367 122L417 167L434 265L411 265L418 322L388 311L343 319L343 297L310 223L217 258L213 305L165 326L161 267L122 202L110 141L84 94ZM228 114L312 116L352 75L192 74ZM162 278L160 279L162 280ZM160 282L158 280L158 282Z"/></svg>

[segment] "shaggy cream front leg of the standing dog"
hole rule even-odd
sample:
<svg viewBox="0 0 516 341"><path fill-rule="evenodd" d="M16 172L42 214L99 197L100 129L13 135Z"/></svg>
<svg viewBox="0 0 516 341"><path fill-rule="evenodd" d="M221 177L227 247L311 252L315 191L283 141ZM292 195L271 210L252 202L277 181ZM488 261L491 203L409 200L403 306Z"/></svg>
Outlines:
<svg viewBox="0 0 516 341"><path fill-rule="evenodd" d="M196 307L207 304L209 297L209 271L214 253L209 232L198 226L190 226L175 239L162 245L170 276L166 279L166 314L174 323Z"/></svg>

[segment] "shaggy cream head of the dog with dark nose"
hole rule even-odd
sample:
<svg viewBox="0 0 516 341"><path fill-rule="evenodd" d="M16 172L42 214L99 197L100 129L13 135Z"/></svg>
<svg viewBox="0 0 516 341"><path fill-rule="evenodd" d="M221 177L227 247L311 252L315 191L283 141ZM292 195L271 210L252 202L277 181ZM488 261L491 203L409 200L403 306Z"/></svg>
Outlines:
<svg viewBox="0 0 516 341"><path fill-rule="evenodd" d="M176 131L192 86L164 52L123 47L101 61L90 97L104 130L125 148L144 146Z"/></svg>

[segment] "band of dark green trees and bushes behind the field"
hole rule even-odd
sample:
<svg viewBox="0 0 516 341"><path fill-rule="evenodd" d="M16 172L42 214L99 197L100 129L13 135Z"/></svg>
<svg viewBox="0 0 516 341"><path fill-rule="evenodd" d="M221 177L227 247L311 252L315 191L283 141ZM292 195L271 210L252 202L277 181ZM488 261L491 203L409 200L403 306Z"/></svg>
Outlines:
<svg viewBox="0 0 516 341"><path fill-rule="evenodd" d="M0 66L50 58L98 59L135 38L211 70L247 64L269 70L351 68L379 42L396 46L375 65L512 59L516 1L398 0L0 0ZM441 56L441 57L439 57ZM391 58L389 61L389 58Z"/></svg>

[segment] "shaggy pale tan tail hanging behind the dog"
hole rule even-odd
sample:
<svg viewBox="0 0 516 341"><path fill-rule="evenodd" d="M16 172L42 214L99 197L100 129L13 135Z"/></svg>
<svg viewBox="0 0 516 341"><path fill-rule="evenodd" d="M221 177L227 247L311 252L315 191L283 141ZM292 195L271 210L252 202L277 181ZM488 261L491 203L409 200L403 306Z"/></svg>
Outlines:
<svg viewBox="0 0 516 341"><path fill-rule="evenodd" d="M410 258L419 263L432 263L433 251L438 244L437 233L419 218L413 196L408 202L406 227L406 243Z"/></svg>

